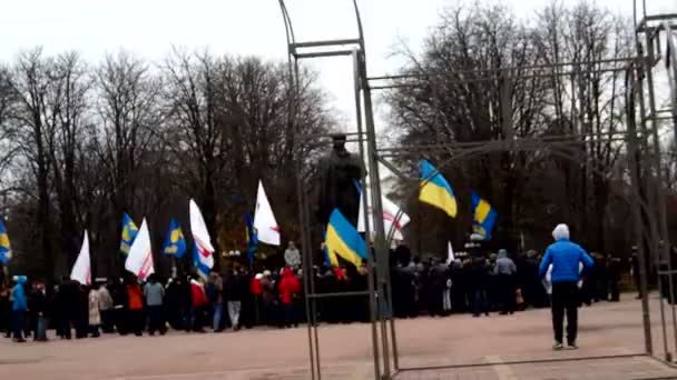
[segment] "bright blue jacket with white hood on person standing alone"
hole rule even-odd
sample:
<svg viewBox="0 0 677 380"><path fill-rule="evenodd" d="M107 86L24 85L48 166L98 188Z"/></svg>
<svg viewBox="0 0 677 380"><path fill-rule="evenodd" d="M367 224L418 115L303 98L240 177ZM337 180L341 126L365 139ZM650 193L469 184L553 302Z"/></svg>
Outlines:
<svg viewBox="0 0 677 380"><path fill-rule="evenodd" d="M580 263L582 271L593 266L592 258L580 246L569 241L569 228L559 224L555 228L552 237L556 242L546 250L546 256L539 267L539 277L542 279L548 273L548 267L552 264L551 282L578 282L580 280Z"/></svg>

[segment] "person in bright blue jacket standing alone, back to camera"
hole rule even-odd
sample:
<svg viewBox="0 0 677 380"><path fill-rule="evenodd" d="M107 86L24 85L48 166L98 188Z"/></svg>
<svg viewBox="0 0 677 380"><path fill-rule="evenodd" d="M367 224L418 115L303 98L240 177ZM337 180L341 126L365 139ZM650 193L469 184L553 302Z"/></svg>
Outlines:
<svg viewBox="0 0 677 380"><path fill-rule="evenodd" d="M540 278L544 278L548 268L552 266L552 330L555 330L555 350L562 349L565 311L567 312L567 342L570 349L576 349L578 333L578 281L580 264L583 271L592 268L592 259L577 243L569 241L569 227L558 224L552 231L555 243L546 250L539 267Z"/></svg>

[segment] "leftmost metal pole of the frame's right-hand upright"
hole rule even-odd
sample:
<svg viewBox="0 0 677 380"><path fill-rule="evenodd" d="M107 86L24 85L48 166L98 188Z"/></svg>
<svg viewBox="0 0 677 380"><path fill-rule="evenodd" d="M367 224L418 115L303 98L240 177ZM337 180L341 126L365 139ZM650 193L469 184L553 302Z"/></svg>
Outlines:
<svg viewBox="0 0 677 380"><path fill-rule="evenodd" d="M647 264L644 250L644 233L641 224L641 207L639 170L637 167L637 127L635 123L635 68L634 66L626 72L626 116L628 127L628 166L632 182L632 219L635 219L635 237L637 239L637 259L639 260L639 291L641 293L641 321L644 326L644 343L647 354L654 354L654 342L651 339L651 318L649 313L649 300L647 291Z"/></svg>

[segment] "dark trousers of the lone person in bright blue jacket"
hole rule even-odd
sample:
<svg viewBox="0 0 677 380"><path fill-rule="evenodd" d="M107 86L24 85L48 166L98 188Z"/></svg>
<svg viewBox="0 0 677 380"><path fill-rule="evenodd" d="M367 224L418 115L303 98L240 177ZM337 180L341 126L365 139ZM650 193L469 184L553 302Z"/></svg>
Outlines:
<svg viewBox="0 0 677 380"><path fill-rule="evenodd" d="M567 313L567 341L576 342L578 333L578 284L575 281L552 283L552 330L555 340L562 342L565 312Z"/></svg>

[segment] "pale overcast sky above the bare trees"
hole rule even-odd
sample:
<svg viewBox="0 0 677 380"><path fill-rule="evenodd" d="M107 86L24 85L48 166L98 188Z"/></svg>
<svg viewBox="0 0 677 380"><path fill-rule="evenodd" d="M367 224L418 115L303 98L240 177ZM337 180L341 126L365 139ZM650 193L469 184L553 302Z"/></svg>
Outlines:
<svg viewBox="0 0 677 380"><path fill-rule="evenodd" d="M649 13L677 8L677 0L646 0ZM492 1L493 2L493 1ZM503 0L518 18L529 18L550 0ZM563 0L575 4L578 0ZM0 60L43 46L48 53L77 50L90 62L120 48L160 61L171 46L214 53L286 59L277 0L0 0ZM399 40L418 50L438 13L451 0L359 0L365 28L370 76L394 72L389 57ZM628 17L632 0L598 0ZM638 0L638 3L641 1ZM673 4L670 4L673 3ZM318 40L356 36L352 0L287 0L296 38ZM349 58L306 61L321 73L332 106L354 124ZM383 126L379 126L383 127Z"/></svg>

